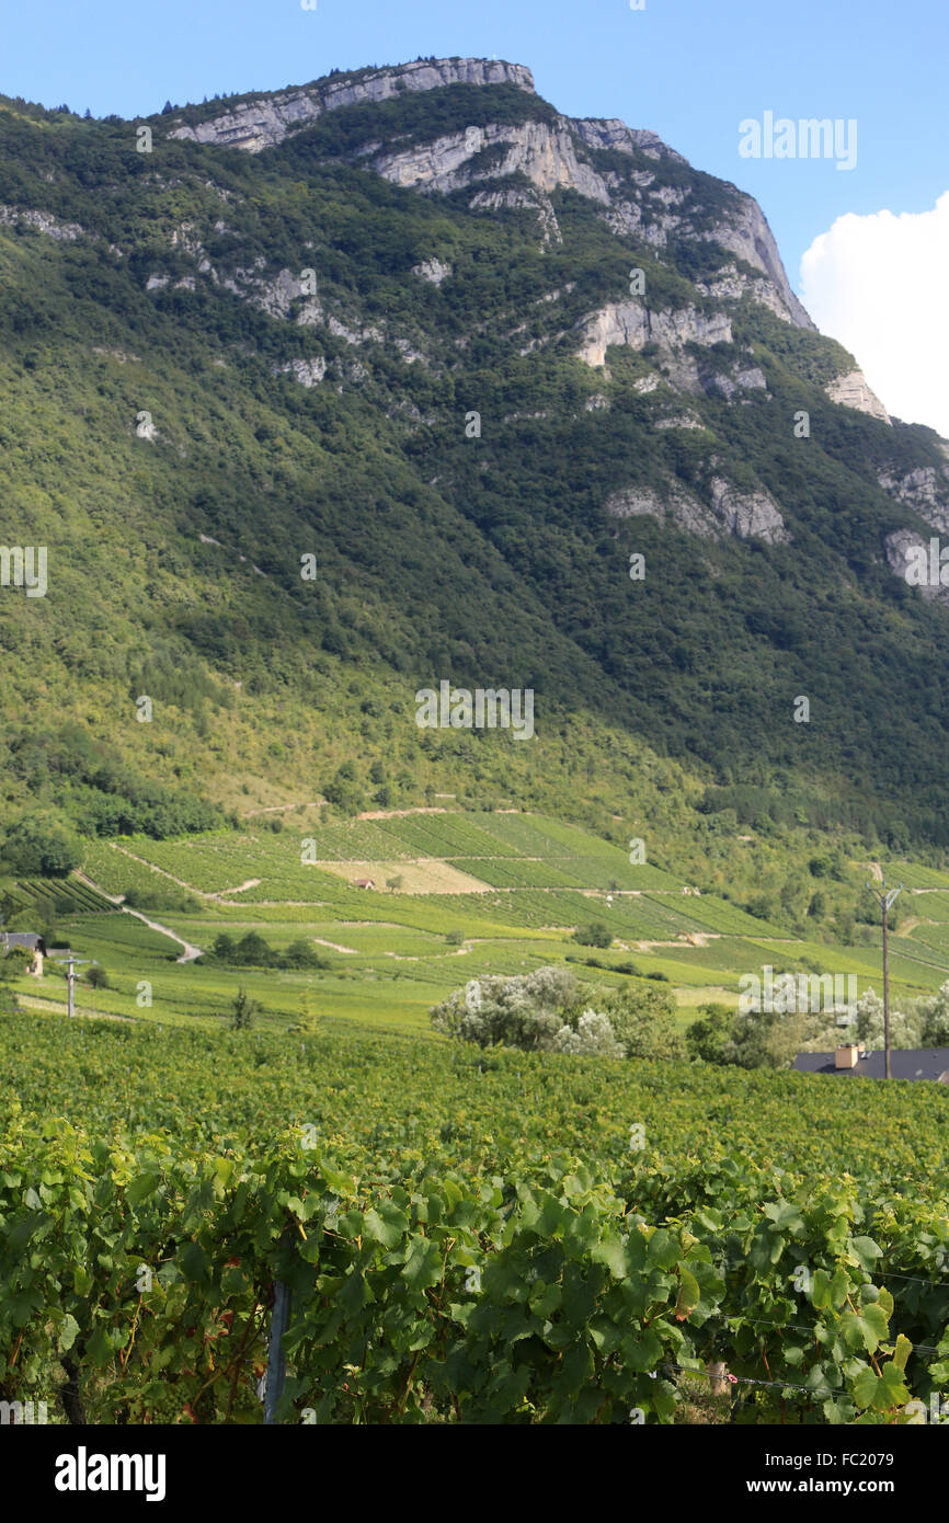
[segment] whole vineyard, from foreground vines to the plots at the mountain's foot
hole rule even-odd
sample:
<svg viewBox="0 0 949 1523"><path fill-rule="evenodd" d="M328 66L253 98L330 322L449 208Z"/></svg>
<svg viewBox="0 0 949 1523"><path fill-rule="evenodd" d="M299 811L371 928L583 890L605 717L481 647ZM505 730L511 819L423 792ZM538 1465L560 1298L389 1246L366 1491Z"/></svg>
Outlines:
<svg viewBox="0 0 949 1523"><path fill-rule="evenodd" d="M276 1348L285 1424L902 1424L949 1389L941 1086L480 1052L428 1020L568 963L664 979L687 1025L768 963L876 984L879 931L792 937L538 815L289 813L91 842L84 873L11 885L107 978L66 1020L61 970L20 973L3 1019L0 1400L256 1424ZM949 976L934 877L897 991ZM574 938L594 921L612 946ZM320 967L232 966L221 932Z"/></svg>

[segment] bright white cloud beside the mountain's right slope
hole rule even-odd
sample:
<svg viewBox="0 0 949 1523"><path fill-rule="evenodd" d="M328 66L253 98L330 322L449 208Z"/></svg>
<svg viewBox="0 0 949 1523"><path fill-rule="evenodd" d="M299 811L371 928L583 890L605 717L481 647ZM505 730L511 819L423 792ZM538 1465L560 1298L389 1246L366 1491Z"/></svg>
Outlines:
<svg viewBox="0 0 949 1523"><path fill-rule="evenodd" d="M801 259L801 300L888 413L949 439L949 190L931 212L839 216Z"/></svg>

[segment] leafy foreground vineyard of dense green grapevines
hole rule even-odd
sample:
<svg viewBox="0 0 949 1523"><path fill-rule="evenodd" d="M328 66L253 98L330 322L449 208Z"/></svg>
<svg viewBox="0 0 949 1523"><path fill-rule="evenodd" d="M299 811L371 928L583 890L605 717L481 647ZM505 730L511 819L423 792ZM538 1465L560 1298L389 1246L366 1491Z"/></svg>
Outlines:
<svg viewBox="0 0 949 1523"><path fill-rule="evenodd" d="M905 1422L949 1095L323 1030L3 1028L3 1397L53 1421ZM53 1119L55 1118L55 1119Z"/></svg>

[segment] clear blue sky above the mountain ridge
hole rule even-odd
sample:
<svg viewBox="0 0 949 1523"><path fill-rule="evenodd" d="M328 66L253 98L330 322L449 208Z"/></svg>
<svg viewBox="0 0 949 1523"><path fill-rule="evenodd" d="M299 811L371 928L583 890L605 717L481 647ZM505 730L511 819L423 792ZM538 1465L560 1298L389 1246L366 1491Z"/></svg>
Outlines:
<svg viewBox="0 0 949 1523"><path fill-rule="evenodd" d="M925 213L949 190L946 0L6 0L0 23L0 90L94 116L419 53L529 64L565 114L653 128L749 190L797 289L836 218ZM856 168L739 157L739 123L765 111L856 119Z"/></svg>

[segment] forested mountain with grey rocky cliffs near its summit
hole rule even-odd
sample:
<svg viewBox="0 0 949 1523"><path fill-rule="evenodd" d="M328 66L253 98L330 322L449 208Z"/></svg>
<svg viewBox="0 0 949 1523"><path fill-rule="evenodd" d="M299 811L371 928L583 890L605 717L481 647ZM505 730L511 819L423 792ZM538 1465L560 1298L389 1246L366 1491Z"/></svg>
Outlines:
<svg viewBox="0 0 949 1523"><path fill-rule="evenodd" d="M0 97L0 337L14 841L443 792L949 845L949 445L655 133L459 58ZM533 739L420 730L442 681Z"/></svg>

